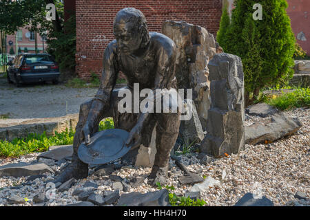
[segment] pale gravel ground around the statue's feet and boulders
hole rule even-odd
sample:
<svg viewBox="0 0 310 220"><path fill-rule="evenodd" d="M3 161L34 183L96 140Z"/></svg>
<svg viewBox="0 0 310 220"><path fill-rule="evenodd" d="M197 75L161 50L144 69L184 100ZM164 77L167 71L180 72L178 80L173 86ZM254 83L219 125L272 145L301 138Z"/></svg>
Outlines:
<svg viewBox="0 0 310 220"><path fill-rule="evenodd" d="M302 128L289 137L282 138L271 144L246 145L245 151L236 155L229 155L220 159L214 159L211 164L203 165L197 159L197 153L183 155L182 162L191 171L201 176L213 177L220 180L218 186L209 188L202 194L207 202L205 206L233 206L247 192L254 192L264 195L275 206L310 206L310 185L309 185L309 158L310 158L310 109L296 109L286 114L291 117L298 117ZM259 120L259 117L249 117L247 124ZM26 155L19 159L0 160L0 165L12 162L35 162L38 154ZM192 185L182 185L178 177L182 175L180 169L170 160L169 186L174 186L176 195L184 195L192 188ZM59 166L52 166L59 170ZM123 167L115 170L113 175L125 178L130 181L136 176L145 177L145 183L136 188L130 188L126 192L150 192L157 190L147 183L147 175L151 168ZM226 175L225 175L226 173ZM36 179L36 184L22 186L12 190L10 186L17 186L25 181L25 177L2 177L0 178L0 206L9 206L6 198L12 195L27 197L29 200L23 204L13 206L32 206L32 197L37 192L45 192L44 181L52 179L54 174L46 174L47 178ZM48 206L65 205L78 202L78 197L72 196L76 188L80 188L85 181L93 181L99 185L95 193L102 194L105 190L113 190L113 181L106 177L94 177L81 179L70 188L70 190L57 193L56 199ZM304 192L308 199L296 199L296 192ZM124 191L121 190L121 194Z"/></svg>

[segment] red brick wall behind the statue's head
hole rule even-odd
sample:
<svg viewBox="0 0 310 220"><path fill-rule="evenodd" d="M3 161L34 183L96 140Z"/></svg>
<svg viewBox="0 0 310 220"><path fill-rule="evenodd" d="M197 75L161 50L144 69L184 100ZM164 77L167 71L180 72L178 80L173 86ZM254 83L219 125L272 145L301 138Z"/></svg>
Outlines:
<svg viewBox="0 0 310 220"><path fill-rule="evenodd" d="M222 0L76 0L76 73L80 78L101 73L104 49L114 39L113 19L127 7L141 10L149 31L154 32L161 32L163 21L183 20L215 35L222 14Z"/></svg>

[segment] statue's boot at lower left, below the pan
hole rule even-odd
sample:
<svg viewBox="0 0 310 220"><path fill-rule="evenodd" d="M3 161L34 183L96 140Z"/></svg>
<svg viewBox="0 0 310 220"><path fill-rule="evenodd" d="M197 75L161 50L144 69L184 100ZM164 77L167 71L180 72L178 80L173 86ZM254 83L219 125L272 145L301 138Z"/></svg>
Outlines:
<svg viewBox="0 0 310 220"><path fill-rule="evenodd" d="M69 164L62 172L59 174L54 183L61 182L62 184L69 179L84 179L88 176L88 164L81 162L79 158L72 159L72 163Z"/></svg>

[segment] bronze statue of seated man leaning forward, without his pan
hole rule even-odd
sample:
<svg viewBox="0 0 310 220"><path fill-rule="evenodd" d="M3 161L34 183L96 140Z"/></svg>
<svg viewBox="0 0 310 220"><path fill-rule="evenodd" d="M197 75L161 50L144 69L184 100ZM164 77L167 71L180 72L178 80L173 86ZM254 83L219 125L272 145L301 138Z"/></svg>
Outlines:
<svg viewBox="0 0 310 220"><path fill-rule="evenodd" d="M124 8L114 19L115 40L103 56L103 71L99 90L89 102L81 104L79 122L74 135L72 163L54 182L74 177L85 178L88 164L77 156L79 145L90 142L103 118L113 117L114 126L130 131L126 145L149 146L156 126L156 155L149 184L163 183L167 178L169 153L176 143L180 113L120 113L117 109L118 90L113 90L118 72L127 77L127 88L139 83L139 89L177 89L175 77L176 45L163 34L148 32L145 16L140 10Z"/></svg>

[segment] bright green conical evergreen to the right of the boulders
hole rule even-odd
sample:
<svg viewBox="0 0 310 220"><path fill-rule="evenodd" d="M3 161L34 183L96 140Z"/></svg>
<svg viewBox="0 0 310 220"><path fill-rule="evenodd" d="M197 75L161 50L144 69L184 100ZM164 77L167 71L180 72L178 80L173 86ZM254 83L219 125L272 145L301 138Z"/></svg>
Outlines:
<svg viewBox="0 0 310 220"><path fill-rule="evenodd" d="M253 19L256 3L262 5L262 20ZM246 104L251 104L260 89L285 84L293 76L296 40L287 1L236 0L234 4L231 23L218 43L225 52L242 58Z"/></svg>

